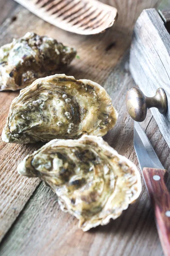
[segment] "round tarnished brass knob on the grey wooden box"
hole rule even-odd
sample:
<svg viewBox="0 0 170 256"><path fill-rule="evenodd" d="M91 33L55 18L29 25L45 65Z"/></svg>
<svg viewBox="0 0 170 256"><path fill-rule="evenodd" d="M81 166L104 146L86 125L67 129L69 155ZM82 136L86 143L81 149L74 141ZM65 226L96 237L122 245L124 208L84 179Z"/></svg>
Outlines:
<svg viewBox="0 0 170 256"><path fill-rule="evenodd" d="M135 121L142 122L149 108L157 108L161 114L167 112L167 96L162 88L156 90L155 96L147 97L138 87L131 87L126 94L126 108Z"/></svg>

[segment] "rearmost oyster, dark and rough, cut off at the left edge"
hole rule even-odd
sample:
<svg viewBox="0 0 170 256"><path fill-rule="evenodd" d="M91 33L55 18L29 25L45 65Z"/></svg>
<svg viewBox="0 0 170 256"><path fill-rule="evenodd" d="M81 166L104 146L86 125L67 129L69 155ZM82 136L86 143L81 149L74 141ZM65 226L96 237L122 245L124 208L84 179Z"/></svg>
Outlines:
<svg viewBox="0 0 170 256"><path fill-rule="evenodd" d="M18 90L49 76L73 60L76 49L28 32L0 48L0 91Z"/></svg>

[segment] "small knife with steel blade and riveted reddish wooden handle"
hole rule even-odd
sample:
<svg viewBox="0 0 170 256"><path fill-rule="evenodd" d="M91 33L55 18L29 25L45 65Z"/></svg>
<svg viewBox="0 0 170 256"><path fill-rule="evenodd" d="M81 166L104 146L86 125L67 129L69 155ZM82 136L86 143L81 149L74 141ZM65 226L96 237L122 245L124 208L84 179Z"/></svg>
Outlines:
<svg viewBox="0 0 170 256"><path fill-rule="evenodd" d="M134 148L155 215L156 227L165 256L170 256L170 193L165 184L166 170L138 122L134 121Z"/></svg>

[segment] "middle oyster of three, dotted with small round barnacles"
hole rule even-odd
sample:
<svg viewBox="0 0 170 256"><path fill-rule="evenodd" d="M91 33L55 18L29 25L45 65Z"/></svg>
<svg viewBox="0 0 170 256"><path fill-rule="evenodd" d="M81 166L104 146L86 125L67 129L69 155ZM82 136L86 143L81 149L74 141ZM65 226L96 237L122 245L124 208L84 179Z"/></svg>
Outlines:
<svg viewBox="0 0 170 256"><path fill-rule="evenodd" d="M2 140L34 143L103 136L116 123L117 112L103 87L64 74L40 78L20 91L9 110Z"/></svg>

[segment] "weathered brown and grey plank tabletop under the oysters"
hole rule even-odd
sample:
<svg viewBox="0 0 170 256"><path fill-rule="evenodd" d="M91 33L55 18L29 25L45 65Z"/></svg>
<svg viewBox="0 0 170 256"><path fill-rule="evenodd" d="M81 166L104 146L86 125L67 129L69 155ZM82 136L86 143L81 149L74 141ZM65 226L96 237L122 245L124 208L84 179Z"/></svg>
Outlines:
<svg viewBox="0 0 170 256"><path fill-rule="evenodd" d="M118 9L119 19L112 29L95 36L64 32L34 16L12 0L0 0L0 46L28 31L49 35L77 47L75 59L65 71L76 79L101 84L119 112L116 127L105 140L119 154L137 163L133 149L133 121L125 108L125 94L134 85L128 70L131 33L142 9L154 7L156 0L108 0ZM164 1L161 7L170 5ZM12 99L19 92L0 93L0 134ZM170 149L150 111L145 128L164 168L170 166ZM57 196L38 179L17 174L17 164L40 147L6 144L0 139L0 255L1 256L162 256L153 212L143 184L142 195L121 217L108 225L83 233L78 221L59 209Z"/></svg>

